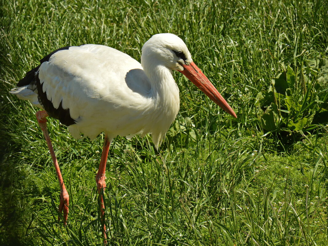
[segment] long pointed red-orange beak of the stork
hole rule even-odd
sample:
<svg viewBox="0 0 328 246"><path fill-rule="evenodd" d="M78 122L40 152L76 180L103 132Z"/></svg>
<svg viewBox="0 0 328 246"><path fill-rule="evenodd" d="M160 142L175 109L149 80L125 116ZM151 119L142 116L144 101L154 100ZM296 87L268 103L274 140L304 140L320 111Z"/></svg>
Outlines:
<svg viewBox="0 0 328 246"><path fill-rule="evenodd" d="M194 62L190 65L182 65L184 70L180 71L191 82L193 82L202 92L206 94L213 102L219 105L224 111L237 118L236 113L230 105L224 100L214 85L208 80L203 72L196 66Z"/></svg>

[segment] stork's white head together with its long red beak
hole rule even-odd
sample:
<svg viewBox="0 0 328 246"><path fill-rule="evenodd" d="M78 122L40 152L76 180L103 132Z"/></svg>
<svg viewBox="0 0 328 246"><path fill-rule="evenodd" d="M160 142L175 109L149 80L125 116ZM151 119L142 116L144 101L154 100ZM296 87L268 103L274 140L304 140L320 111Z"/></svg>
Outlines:
<svg viewBox="0 0 328 246"><path fill-rule="evenodd" d="M178 36L172 33L152 36L142 47L141 63L145 60L181 72L213 102L237 118L234 110L195 65L186 44Z"/></svg>

